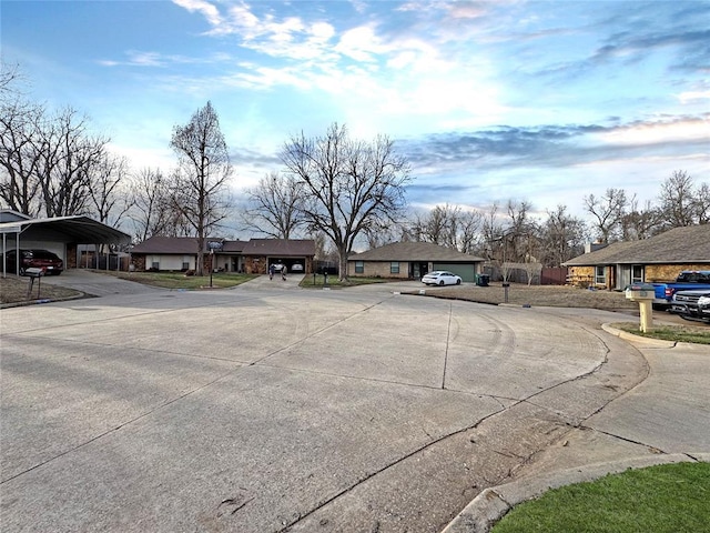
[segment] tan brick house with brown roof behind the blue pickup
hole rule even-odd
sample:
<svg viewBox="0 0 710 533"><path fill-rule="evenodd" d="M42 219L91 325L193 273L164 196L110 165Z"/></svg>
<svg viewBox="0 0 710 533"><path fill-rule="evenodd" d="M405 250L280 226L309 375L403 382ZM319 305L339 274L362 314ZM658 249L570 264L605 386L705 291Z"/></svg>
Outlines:
<svg viewBox="0 0 710 533"><path fill-rule="evenodd" d="M641 241L592 244L562 263L568 280L610 290L673 281L682 270L710 270L710 224L673 228Z"/></svg>

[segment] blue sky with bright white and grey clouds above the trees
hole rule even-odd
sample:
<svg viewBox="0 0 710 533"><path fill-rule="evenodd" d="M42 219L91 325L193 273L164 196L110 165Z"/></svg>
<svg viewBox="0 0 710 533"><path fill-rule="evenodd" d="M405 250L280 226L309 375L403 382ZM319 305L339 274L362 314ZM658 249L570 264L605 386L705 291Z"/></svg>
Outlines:
<svg viewBox="0 0 710 533"><path fill-rule="evenodd" d="M333 122L407 157L413 209L532 213L710 182L710 1L2 0L2 60L134 170L211 101L236 195Z"/></svg>

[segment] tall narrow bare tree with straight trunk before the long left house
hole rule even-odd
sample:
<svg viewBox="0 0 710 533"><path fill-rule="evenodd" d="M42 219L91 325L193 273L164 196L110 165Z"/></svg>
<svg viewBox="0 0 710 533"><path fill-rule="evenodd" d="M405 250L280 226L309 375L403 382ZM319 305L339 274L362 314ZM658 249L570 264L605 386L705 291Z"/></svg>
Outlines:
<svg viewBox="0 0 710 533"><path fill-rule="evenodd" d="M226 187L232 174L230 155L211 102L186 125L175 125L171 147L179 168L171 183L172 207L196 234L196 274L204 274L204 245L211 230L226 218Z"/></svg>

